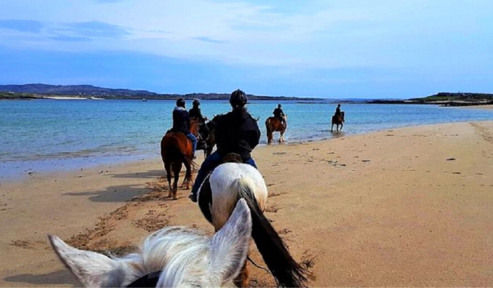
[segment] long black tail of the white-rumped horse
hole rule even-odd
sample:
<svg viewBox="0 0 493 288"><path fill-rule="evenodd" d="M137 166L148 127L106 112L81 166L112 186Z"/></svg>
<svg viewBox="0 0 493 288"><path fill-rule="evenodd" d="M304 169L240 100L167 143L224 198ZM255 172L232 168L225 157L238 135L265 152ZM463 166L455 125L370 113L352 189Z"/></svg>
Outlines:
<svg viewBox="0 0 493 288"><path fill-rule="evenodd" d="M264 216L253 194L251 181L243 177L237 180L235 186L239 190L239 198L244 198L250 209L252 237L258 251L280 287L305 287L308 271L296 263L286 244Z"/></svg>

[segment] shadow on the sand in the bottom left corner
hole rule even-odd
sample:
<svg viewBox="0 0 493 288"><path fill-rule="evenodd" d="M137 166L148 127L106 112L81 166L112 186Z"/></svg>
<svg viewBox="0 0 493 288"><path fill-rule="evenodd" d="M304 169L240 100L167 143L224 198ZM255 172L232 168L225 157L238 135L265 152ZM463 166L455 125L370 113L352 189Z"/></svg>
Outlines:
<svg viewBox="0 0 493 288"><path fill-rule="evenodd" d="M80 285L66 269L39 275L18 274L5 277L3 280L12 283L29 283L35 286L71 285L71 287L78 287Z"/></svg>

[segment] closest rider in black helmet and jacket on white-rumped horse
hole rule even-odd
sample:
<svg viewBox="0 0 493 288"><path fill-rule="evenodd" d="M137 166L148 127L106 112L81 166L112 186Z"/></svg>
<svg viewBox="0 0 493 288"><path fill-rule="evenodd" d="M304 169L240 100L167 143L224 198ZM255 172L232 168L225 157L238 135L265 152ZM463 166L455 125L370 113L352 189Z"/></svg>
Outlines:
<svg viewBox="0 0 493 288"><path fill-rule="evenodd" d="M190 193L190 200L197 202L197 192L207 175L217 167L228 153L239 154L244 163L257 168L251 158L251 151L260 140L260 130L257 121L246 112L248 98L240 89L231 93L229 103L233 110L219 116L214 132L217 150L211 154L200 166L199 173Z"/></svg>

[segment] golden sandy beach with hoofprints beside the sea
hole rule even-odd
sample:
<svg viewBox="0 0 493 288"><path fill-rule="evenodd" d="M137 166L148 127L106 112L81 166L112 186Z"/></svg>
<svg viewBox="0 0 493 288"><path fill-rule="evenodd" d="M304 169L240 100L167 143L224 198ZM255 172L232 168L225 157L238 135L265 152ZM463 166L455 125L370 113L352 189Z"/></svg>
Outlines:
<svg viewBox="0 0 493 288"><path fill-rule="evenodd" d="M493 286L493 122L341 134L254 157L266 215L315 276L310 286ZM189 191L164 198L163 174L156 159L1 183L0 286L80 285L47 233L127 251L164 225L212 232ZM274 284L250 272L251 286Z"/></svg>

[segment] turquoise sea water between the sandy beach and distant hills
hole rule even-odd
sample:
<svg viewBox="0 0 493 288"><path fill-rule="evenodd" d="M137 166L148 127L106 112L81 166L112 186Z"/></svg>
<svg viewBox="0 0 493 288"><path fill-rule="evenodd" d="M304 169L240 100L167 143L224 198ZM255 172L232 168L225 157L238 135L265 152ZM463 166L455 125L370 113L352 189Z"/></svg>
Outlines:
<svg viewBox="0 0 493 288"><path fill-rule="evenodd" d="M264 121L276 101L251 101ZM167 100L8 100L0 101L0 177L28 171L72 169L94 163L159 157L159 142L171 127L175 101ZM288 142L326 139L336 104L283 101ZM187 101L187 109L191 101ZM230 110L227 101L202 101L209 118ZM493 111L434 105L342 104L344 134L387 128L476 120L493 120ZM275 140L278 138L275 134ZM200 152L201 153L201 152Z"/></svg>

